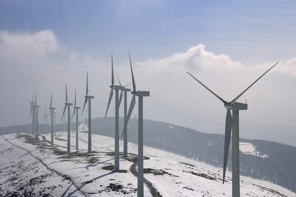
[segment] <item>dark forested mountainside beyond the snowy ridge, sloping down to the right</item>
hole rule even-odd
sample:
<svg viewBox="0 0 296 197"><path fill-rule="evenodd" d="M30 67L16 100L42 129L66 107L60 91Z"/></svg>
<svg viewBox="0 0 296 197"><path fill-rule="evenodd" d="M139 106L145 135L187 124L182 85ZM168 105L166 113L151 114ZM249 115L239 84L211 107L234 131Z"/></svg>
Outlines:
<svg viewBox="0 0 296 197"><path fill-rule="evenodd" d="M92 133L114 137L114 121L114 118L93 119ZM121 136L122 117L119 118L119 125ZM129 120L128 140L138 143L138 119ZM243 138L240 138L240 143L251 145L257 153L247 154L240 150L241 175L269 181L296 192L296 147ZM227 163L229 170L232 169L231 144L232 142L230 142ZM182 126L144 119L144 145L217 167L223 165L224 135L202 133ZM240 149L244 147L240 146Z"/></svg>

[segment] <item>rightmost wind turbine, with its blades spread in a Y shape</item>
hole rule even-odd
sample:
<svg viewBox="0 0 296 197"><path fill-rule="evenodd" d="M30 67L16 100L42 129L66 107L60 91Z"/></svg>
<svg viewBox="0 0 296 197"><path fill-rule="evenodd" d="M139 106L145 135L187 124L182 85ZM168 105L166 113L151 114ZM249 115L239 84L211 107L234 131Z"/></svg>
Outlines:
<svg viewBox="0 0 296 197"><path fill-rule="evenodd" d="M277 62L275 65L277 65ZM273 65L270 69L272 69L275 65ZM268 69L268 71L270 71ZM261 77L263 77L268 71L266 71ZM188 72L187 72L188 73ZM189 73L188 73L189 74ZM239 111L247 110L248 105L245 103L236 102L252 85L254 85L261 77L259 77L255 82L253 82L247 89L245 89L240 95L238 95L231 102L224 101L221 97L215 94L212 90L210 90L207 86L205 86L202 82L194 78L191 74L189 74L193 79L199 82L202 86L204 86L207 90L209 90L212 94L214 94L219 100L222 101L224 107L227 109L226 111L226 121L225 121L225 138L224 138L224 161L223 161L223 184L225 180L225 172L227 165L227 157L228 150L230 144L230 136L231 136L231 128L232 128L232 197L240 196L240 188L239 188ZM232 110L232 116L231 112Z"/></svg>

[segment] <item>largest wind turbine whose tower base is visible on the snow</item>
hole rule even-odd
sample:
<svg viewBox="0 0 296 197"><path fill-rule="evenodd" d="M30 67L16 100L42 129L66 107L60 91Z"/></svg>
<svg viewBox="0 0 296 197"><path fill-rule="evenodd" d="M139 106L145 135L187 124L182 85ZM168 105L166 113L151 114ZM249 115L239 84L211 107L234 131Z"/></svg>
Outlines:
<svg viewBox="0 0 296 197"><path fill-rule="evenodd" d="M113 55L111 53L111 91L109 96L109 101L107 105L106 115L111 103L113 96L113 90L115 90L115 147L114 147L114 171L119 171L119 100L118 100L118 91L122 90L124 87L119 85L114 85L114 73L113 73ZM122 93L122 92L121 92ZM121 96L122 98L122 96Z"/></svg>

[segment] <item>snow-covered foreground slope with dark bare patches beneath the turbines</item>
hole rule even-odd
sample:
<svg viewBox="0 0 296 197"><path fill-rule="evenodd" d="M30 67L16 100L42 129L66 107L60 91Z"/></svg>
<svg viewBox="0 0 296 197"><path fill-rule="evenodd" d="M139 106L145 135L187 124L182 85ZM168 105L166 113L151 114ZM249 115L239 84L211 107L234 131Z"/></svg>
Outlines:
<svg viewBox="0 0 296 197"><path fill-rule="evenodd" d="M84 130L84 129L81 129ZM87 154L87 134L79 132L79 151L71 132L67 154L67 133L57 133L54 147L50 135L36 142L29 133L0 137L0 194L24 196L137 196L137 145L129 143L129 157L120 158L120 172L114 173L114 139L92 135L93 153ZM120 141L120 152L123 141ZM122 155L121 155L122 156ZM222 169L172 153L145 147L145 196L221 197L231 196L231 172L222 184ZM241 197L296 197L278 185L241 176ZM152 194L151 194L152 192Z"/></svg>

